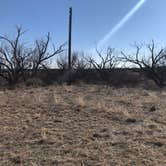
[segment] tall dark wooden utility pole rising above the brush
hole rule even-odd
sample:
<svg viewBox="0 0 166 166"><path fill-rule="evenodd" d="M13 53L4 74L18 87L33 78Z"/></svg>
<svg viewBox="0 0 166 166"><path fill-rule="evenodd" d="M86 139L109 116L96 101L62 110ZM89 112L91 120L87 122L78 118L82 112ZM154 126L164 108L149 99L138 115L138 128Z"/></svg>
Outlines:
<svg viewBox="0 0 166 166"><path fill-rule="evenodd" d="M68 69L71 69L72 7L69 8Z"/></svg>

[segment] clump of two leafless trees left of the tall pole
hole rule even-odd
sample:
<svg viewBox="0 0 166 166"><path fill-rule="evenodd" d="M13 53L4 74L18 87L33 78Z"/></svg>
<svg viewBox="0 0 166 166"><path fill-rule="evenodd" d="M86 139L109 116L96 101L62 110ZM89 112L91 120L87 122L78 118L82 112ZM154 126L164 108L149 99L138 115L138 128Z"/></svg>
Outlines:
<svg viewBox="0 0 166 166"><path fill-rule="evenodd" d="M9 84L25 80L27 70L31 70L31 75L34 76L40 66L44 67L44 62L63 51L62 45L53 53L48 53L49 34L46 40L36 41L35 48L29 49L21 42L25 31L21 27L17 27L16 30L14 39L0 36L0 77Z"/></svg>

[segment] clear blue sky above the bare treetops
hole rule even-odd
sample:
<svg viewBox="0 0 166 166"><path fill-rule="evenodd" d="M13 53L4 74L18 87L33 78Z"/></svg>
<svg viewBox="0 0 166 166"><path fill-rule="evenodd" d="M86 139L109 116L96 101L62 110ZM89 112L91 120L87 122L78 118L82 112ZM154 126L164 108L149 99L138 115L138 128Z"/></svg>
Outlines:
<svg viewBox="0 0 166 166"><path fill-rule="evenodd" d="M51 32L55 44L68 39L68 8L73 6L73 49L95 46L139 0L0 0L0 34L28 29L30 41ZM166 0L147 0L107 42L118 49L155 39L166 45Z"/></svg>

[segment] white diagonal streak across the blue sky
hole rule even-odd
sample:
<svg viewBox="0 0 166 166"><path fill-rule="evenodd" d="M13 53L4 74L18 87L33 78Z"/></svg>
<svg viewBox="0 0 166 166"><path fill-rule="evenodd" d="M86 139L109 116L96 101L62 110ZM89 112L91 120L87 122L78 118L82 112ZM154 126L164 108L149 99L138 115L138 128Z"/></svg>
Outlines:
<svg viewBox="0 0 166 166"><path fill-rule="evenodd" d="M141 8L147 0L140 0L97 44L98 48L102 48L108 40Z"/></svg>

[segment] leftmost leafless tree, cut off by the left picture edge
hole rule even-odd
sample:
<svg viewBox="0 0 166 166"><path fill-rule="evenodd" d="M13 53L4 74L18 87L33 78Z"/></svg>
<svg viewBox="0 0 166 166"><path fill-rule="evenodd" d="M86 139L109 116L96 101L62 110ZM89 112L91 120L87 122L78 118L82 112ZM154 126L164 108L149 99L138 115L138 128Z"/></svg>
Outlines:
<svg viewBox="0 0 166 166"><path fill-rule="evenodd" d="M28 50L20 42L24 33L25 31L17 27L17 34L13 40L0 36L0 76L9 84L16 83L23 76L25 59L29 56Z"/></svg>

